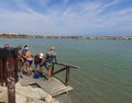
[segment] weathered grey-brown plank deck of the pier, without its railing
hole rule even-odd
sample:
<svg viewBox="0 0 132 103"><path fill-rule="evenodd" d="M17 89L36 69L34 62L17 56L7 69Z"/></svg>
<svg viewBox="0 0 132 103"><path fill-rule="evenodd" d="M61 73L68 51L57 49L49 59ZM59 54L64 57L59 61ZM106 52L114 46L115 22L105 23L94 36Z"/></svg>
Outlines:
<svg viewBox="0 0 132 103"><path fill-rule="evenodd" d="M44 77L40 79L34 79L33 76L23 76L23 78L20 78L19 82L22 85L36 84L52 96L56 96L62 93L67 93L73 90L70 85L65 85L62 81L59 81L56 78L51 78L51 80L46 80Z"/></svg>

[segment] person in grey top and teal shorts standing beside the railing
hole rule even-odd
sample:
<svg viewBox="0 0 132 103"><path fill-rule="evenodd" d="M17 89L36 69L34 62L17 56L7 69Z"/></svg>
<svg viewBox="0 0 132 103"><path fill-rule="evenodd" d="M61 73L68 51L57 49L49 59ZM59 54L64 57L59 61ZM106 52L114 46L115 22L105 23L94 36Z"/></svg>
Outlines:
<svg viewBox="0 0 132 103"><path fill-rule="evenodd" d="M46 56L45 56L45 59L46 59L46 67L48 69L48 80L51 78L51 72L52 72L52 69L53 69L53 62L57 62L57 59L56 59L56 53L54 52L54 47L51 47L50 48L50 52L46 53Z"/></svg>

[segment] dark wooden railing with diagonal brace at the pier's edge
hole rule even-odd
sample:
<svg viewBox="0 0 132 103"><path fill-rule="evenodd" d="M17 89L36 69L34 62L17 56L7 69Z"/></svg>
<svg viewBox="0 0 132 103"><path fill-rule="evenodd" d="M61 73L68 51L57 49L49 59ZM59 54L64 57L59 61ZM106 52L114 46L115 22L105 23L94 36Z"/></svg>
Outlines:
<svg viewBox="0 0 132 103"><path fill-rule="evenodd" d="M55 71L55 65L57 65L57 66L63 66L63 68ZM57 73L59 73L59 72L62 72L62 71L65 70L66 73L65 73L65 82L64 82L64 83L65 83L66 85L68 85L68 84L69 84L69 70L70 70L72 68L78 69L79 67L74 66L74 65L63 64L63 62L54 62L53 69L52 69L52 76L54 77L54 75L57 75Z"/></svg>

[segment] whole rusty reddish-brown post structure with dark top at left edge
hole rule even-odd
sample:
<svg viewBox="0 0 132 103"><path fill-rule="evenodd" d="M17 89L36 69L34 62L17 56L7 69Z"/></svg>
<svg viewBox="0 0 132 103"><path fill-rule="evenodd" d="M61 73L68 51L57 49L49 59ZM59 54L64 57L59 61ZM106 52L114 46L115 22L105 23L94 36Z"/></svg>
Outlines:
<svg viewBox="0 0 132 103"><path fill-rule="evenodd" d="M15 82L18 77L18 49L0 48L0 84L8 88L8 103L15 103Z"/></svg>

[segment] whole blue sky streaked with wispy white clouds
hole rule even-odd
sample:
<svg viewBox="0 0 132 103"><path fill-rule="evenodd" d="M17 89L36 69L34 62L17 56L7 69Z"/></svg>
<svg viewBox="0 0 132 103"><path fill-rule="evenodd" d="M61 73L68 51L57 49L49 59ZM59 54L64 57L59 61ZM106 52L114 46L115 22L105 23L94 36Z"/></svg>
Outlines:
<svg viewBox="0 0 132 103"><path fill-rule="evenodd" d="M132 36L132 0L0 0L0 33Z"/></svg>

